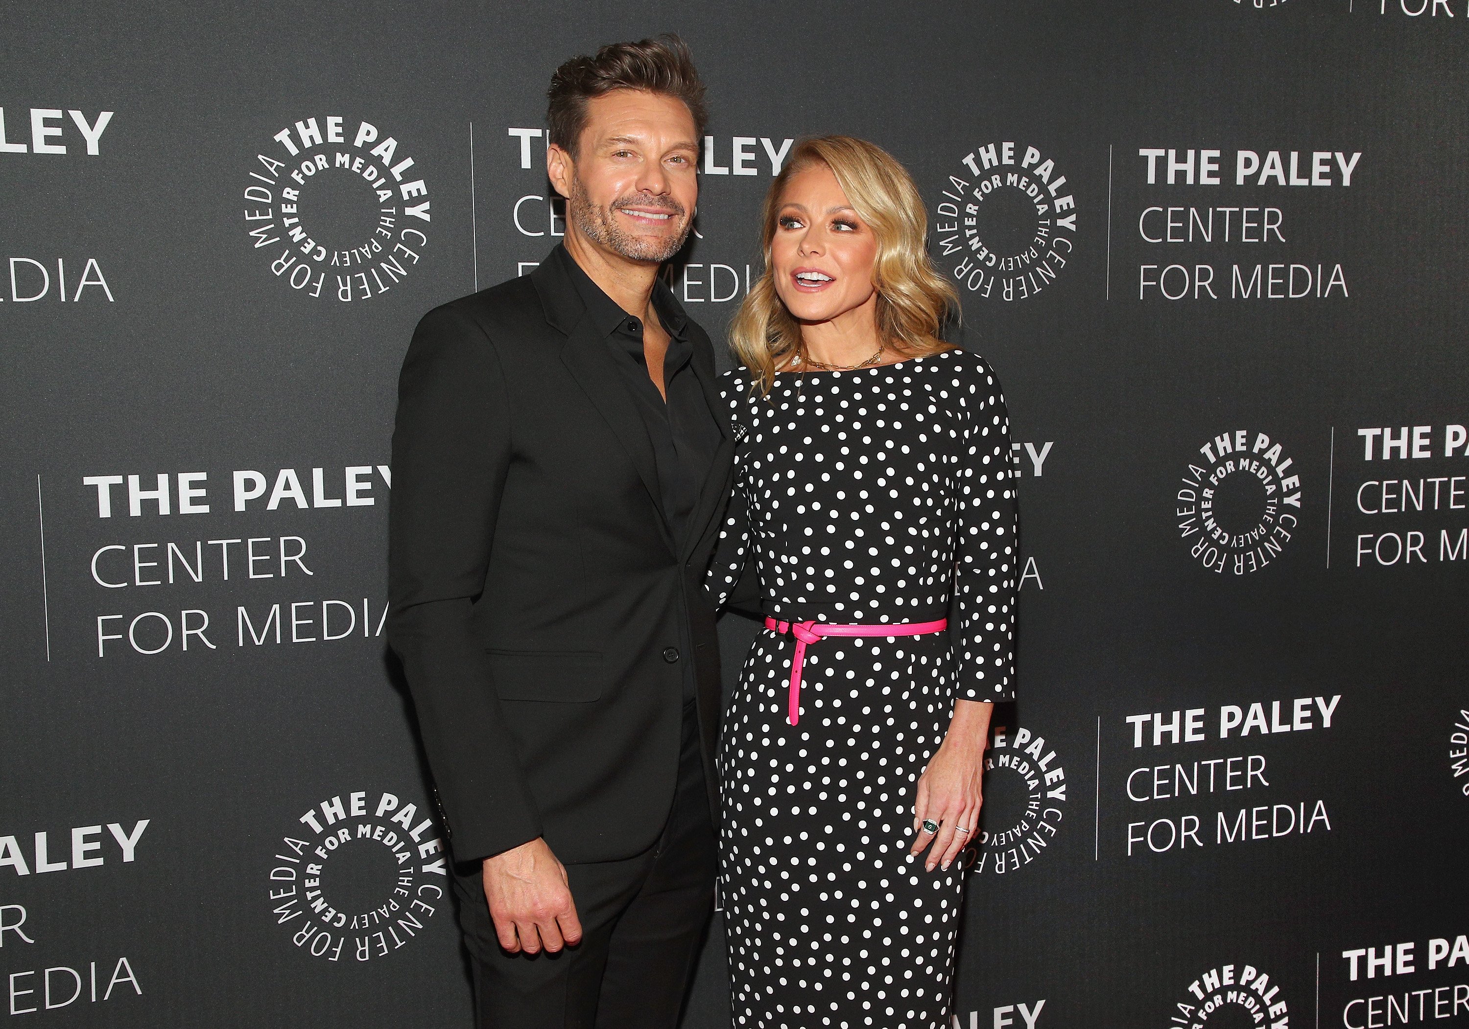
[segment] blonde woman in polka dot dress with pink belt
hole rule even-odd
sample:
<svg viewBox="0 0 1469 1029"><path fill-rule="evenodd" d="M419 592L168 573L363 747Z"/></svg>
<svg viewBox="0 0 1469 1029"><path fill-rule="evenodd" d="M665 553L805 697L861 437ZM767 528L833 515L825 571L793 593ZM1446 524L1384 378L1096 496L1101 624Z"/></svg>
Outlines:
<svg viewBox="0 0 1469 1029"><path fill-rule="evenodd" d="M1014 697L1015 496L999 383L936 338L956 299L924 225L884 151L802 144L732 327L710 584L723 602L751 565L767 615L720 756L736 1026L948 1025L955 859Z"/></svg>

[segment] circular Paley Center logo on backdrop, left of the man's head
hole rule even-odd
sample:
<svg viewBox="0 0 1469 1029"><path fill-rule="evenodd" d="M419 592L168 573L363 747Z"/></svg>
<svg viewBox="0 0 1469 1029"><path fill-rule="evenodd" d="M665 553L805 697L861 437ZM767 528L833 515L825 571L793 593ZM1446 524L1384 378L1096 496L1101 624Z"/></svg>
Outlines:
<svg viewBox="0 0 1469 1029"><path fill-rule="evenodd" d="M366 120L328 114L281 129L256 154L244 200L245 241L279 282L313 299L380 297L429 244L420 169Z"/></svg>

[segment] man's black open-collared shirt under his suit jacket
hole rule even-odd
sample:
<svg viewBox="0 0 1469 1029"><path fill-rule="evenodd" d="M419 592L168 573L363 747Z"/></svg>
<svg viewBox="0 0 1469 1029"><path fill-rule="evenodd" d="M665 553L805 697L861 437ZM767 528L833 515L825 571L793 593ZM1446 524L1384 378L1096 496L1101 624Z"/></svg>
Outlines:
<svg viewBox="0 0 1469 1029"><path fill-rule="evenodd" d="M607 339L613 358L623 373L642 415L643 427L652 443L654 462L658 468L658 501L663 508L668 533L677 546L683 546L689 530L689 518L699 501L699 489L714 452L720 446L721 433L710 411L710 404L699 388L690 364L693 343L687 336L687 316L679 307L673 292L660 279L654 285L652 307L668 333L668 351L663 358L663 383L667 401L648 376L648 361L643 357L642 319L629 314L617 305L602 288L571 258L564 247L557 247L551 260L564 263L566 273L586 304L588 317L596 332ZM687 647L687 640L685 640ZM693 699L693 665L683 662L683 696Z"/></svg>

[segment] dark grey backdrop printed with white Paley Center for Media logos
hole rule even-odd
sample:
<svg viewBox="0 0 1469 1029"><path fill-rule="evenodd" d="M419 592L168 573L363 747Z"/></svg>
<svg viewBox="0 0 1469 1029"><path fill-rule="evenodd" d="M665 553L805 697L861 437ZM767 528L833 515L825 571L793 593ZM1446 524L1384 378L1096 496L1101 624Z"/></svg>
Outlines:
<svg viewBox="0 0 1469 1029"><path fill-rule="evenodd" d="M1466 0L7 3L3 1017L469 1025L395 379L563 233L551 70L660 31L712 104L693 317L792 141L862 135L1006 388L955 1025L1469 1026Z"/></svg>

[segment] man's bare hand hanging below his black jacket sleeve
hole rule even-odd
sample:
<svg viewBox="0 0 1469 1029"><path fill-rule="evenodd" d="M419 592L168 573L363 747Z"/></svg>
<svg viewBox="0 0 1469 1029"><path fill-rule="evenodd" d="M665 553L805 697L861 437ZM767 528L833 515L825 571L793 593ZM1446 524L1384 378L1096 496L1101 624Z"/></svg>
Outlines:
<svg viewBox="0 0 1469 1029"><path fill-rule="evenodd" d="M511 954L552 954L582 942L566 869L539 837L485 859L485 900L499 945Z"/></svg>

